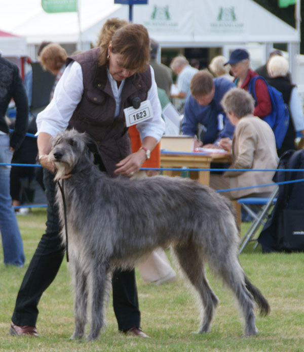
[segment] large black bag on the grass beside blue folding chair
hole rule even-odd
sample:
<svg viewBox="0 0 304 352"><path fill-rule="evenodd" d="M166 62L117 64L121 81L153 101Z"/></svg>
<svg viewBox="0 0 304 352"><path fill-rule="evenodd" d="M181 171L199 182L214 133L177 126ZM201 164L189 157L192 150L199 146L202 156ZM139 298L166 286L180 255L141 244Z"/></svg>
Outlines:
<svg viewBox="0 0 304 352"><path fill-rule="evenodd" d="M304 179L304 150L289 150L279 162L275 182ZM264 225L258 242L263 253L304 251L304 181L279 186L277 203Z"/></svg>

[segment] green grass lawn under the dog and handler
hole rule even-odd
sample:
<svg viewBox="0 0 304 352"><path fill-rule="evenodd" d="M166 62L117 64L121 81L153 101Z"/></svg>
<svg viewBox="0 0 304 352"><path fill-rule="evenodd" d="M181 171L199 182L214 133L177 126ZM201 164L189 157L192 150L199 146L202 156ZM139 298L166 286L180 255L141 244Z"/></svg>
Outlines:
<svg viewBox="0 0 304 352"><path fill-rule="evenodd" d="M37 330L39 338L9 336L16 295L36 245L45 230L45 210L18 216L26 263L24 268L5 267L0 254L0 351L303 351L304 274L302 253L261 254L250 244L240 255L244 271L268 298L271 314L256 318L256 337L242 337L243 320L232 293L207 272L219 298L207 334L193 334L199 326L199 304L179 275L173 283L137 286L141 326L150 339L127 337L118 332L111 296L107 326L94 342L69 340L73 331L73 293L66 262L42 296ZM242 233L248 225L242 224ZM168 253L168 255L170 255Z"/></svg>

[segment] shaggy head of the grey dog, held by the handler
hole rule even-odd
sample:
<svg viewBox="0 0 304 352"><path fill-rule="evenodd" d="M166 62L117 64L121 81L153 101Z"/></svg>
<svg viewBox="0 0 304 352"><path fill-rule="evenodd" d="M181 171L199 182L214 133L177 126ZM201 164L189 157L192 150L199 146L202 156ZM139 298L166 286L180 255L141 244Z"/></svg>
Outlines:
<svg viewBox="0 0 304 352"><path fill-rule="evenodd" d="M49 161L56 166L54 180L64 175L88 168L94 163L94 155L98 154L95 142L86 133L75 129L58 133L52 143Z"/></svg>

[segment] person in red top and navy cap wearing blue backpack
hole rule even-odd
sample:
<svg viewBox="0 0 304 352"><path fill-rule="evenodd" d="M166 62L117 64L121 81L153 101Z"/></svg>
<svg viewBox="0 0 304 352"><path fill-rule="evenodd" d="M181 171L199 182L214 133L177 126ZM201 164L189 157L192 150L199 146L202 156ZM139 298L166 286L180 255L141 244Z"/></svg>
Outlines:
<svg viewBox="0 0 304 352"><path fill-rule="evenodd" d="M230 54L229 61L231 71L235 76L234 83L237 87L248 91L249 82L252 77L258 74L249 67L249 54L246 50L236 49ZM254 116L264 117L271 113L271 101L268 94L268 88L262 79L257 79L254 85L256 102L253 111Z"/></svg>

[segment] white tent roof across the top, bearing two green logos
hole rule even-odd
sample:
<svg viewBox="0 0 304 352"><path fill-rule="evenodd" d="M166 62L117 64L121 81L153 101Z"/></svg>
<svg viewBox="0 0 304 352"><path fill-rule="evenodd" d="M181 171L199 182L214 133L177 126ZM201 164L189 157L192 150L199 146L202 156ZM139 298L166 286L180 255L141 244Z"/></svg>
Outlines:
<svg viewBox="0 0 304 352"><path fill-rule="evenodd" d="M128 20L129 8L114 0L79 0L82 40L95 42L107 18ZM77 13L45 13L41 0L0 0L3 30L42 40L77 42ZM133 22L142 23L162 47L211 47L227 43L299 42L298 32L252 0L148 0L133 6Z"/></svg>

